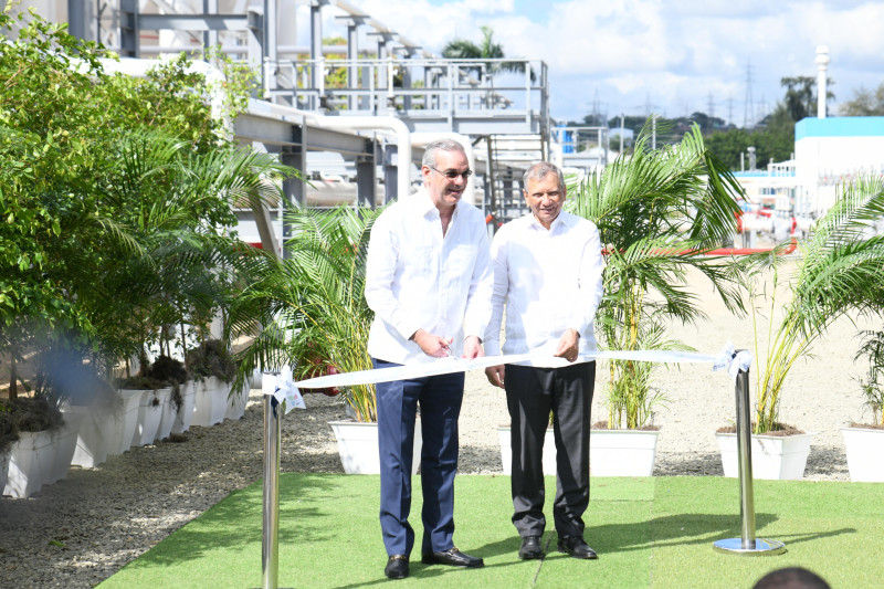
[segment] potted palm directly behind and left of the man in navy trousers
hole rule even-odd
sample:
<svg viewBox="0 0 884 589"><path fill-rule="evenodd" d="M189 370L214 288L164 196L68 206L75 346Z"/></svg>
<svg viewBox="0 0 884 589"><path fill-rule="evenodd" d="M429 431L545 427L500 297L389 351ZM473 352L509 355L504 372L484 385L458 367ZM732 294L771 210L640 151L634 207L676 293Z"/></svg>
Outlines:
<svg viewBox="0 0 884 589"><path fill-rule="evenodd" d="M267 260L262 280L243 290L231 312L233 328L254 335L238 355L239 378L284 365L297 378L371 368L367 344L373 314L364 293L377 214L346 207L288 213L295 235L291 259ZM343 395L359 421L377 420L373 385L348 387Z"/></svg>

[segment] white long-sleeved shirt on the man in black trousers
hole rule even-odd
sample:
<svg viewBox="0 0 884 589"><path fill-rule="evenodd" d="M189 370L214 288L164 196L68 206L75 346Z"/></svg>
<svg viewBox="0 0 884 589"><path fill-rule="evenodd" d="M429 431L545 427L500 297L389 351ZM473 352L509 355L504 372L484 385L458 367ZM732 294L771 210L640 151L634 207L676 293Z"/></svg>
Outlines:
<svg viewBox="0 0 884 589"><path fill-rule="evenodd" d="M549 230L533 214L506 223L492 242L494 294L485 354L552 355L566 329L580 333L580 353L597 349L593 317L602 297L601 240L596 225L561 211Z"/></svg>

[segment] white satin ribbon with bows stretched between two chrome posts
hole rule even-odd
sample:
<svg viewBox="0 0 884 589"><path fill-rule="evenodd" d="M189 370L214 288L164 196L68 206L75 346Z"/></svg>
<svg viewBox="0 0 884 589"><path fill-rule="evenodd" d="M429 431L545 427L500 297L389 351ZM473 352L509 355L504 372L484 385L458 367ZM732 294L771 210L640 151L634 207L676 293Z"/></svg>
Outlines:
<svg viewBox="0 0 884 589"><path fill-rule="evenodd" d="M575 364L588 362L593 360L634 360L641 362L663 362L663 364L712 364L714 371L727 370L732 379L736 380L740 370L748 370L753 362L751 354L741 350L734 354L734 345L727 343L722 350L715 355L692 354L686 351L670 350L633 350L633 351L592 351L581 354L577 360L569 362L565 358L554 356L539 356L533 354L509 354L503 356L483 356L473 360L464 358L439 358L425 362L417 362L390 368L378 368L372 370L358 370L356 372L341 372L328 375L294 382L292 370L285 368L275 379L275 386L266 387L264 395L273 395L277 401L286 400L286 412L294 407L304 409L304 399L299 389L322 389L332 387L352 387L355 385L375 385L378 382L389 382L391 380L406 380L411 378L424 378L452 372L466 372L469 370L481 370L490 366L504 364L519 364L524 366L535 366L538 368L561 368Z"/></svg>

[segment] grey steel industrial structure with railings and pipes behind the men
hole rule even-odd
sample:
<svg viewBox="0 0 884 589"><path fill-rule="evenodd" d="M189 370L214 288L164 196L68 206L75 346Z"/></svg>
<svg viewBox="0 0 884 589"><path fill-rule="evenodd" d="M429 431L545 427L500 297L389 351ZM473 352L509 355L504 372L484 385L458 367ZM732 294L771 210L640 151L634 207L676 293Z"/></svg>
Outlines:
<svg viewBox="0 0 884 589"><path fill-rule="evenodd" d="M467 148L476 173L465 198L496 220L492 228L526 212L519 185L530 164L554 158L587 171L598 165L589 151L565 154L552 145L561 136L549 116L548 69L538 60L439 57L340 0L56 0L65 1L71 32L123 61L219 46L260 73L261 87L235 122L236 138L280 154L314 180L286 183L288 202L275 209L236 211L241 234L261 233L263 246L281 253L265 232L273 230L277 242L287 236L286 207L393 200L418 185L422 145L432 136L455 137ZM325 11L346 28L339 44L324 43ZM305 17L309 34L298 43ZM367 117L378 119L377 129L362 124ZM390 119L412 135L408 161ZM582 138L585 130L575 133Z"/></svg>

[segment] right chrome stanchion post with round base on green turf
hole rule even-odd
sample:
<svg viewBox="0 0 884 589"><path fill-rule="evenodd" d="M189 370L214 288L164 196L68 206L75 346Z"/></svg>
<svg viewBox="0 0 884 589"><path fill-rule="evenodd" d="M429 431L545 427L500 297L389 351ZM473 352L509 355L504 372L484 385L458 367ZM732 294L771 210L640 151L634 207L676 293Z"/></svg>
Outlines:
<svg viewBox="0 0 884 589"><path fill-rule="evenodd" d="M738 350L739 351L739 350ZM739 465L740 537L716 540L719 553L740 555L778 555L786 546L778 540L755 537L755 487L753 481L751 416L749 406L749 369L740 368L735 386L737 400L737 462Z"/></svg>

